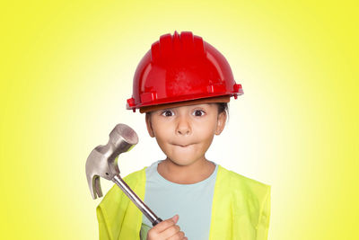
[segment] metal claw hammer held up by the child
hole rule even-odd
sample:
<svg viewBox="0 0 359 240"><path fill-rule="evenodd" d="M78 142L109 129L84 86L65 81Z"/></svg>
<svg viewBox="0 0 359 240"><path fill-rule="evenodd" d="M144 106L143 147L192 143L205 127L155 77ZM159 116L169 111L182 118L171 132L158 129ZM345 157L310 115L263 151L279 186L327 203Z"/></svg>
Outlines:
<svg viewBox="0 0 359 240"><path fill-rule="evenodd" d="M102 197L100 177L115 182L154 227L162 222L162 219L158 218L119 176L118 156L131 150L137 142L138 137L133 129L122 123L116 125L109 133L109 142L104 146L95 147L87 157L86 177L94 200L97 196Z"/></svg>

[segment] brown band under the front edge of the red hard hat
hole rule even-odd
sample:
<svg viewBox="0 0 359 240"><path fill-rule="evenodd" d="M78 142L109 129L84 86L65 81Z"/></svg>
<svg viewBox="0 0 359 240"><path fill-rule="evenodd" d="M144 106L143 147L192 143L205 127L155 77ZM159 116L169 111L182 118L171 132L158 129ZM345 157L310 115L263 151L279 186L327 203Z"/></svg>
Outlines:
<svg viewBox="0 0 359 240"><path fill-rule="evenodd" d="M151 105L151 106L145 106L140 108L140 112L144 113L144 112L158 111L163 109L171 109L181 106L197 105L203 103L230 102L230 98L231 98L230 95L225 95L225 96L201 98L201 99L195 99L195 100L189 100L183 102L171 102L171 103L165 103L159 105Z"/></svg>

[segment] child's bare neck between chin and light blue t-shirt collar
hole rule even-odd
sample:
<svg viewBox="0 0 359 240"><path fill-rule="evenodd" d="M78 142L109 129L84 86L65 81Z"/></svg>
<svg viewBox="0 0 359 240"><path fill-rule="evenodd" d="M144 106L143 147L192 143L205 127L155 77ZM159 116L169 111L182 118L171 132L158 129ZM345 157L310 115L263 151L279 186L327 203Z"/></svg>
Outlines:
<svg viewBox="0 0 359 240"><path fill-rule="evenodd" d="M215 171L215 164L204 158L193 164L179 165L167 158L158 164L157 171L170 182L193 184L208 178Z"/></svg>

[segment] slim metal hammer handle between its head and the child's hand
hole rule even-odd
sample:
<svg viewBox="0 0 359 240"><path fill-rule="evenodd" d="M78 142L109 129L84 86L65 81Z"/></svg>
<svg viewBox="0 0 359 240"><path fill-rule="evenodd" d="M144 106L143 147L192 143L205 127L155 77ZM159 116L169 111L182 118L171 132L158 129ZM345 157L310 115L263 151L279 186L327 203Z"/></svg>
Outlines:
<svg viewBox="0 0 359 240"><path fill-rule="evenodd" d="M119 175L115 175L112 178L112 181L115 182L123 192L125 192L127 197L132 200L133 203L135 203L136 207L140 209L144 216L151 221L153 227L162 222L162 219L158 218L153 211L148 208L140 198L138 198L136 193L130 189L127 183L123 181Z"/></svg>

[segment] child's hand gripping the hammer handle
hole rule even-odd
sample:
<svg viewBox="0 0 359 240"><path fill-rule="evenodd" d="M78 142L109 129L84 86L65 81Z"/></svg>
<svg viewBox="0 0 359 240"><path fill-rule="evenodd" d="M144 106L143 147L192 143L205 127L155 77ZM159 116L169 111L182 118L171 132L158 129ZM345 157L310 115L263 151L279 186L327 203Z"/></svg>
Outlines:
<svg viewBox="0 0 359 240"><path fill-rule="evenodd" d="M147 240L188 240L176 225L178 221L179 216L175 215L157 224L148 231Z"/></svg>

